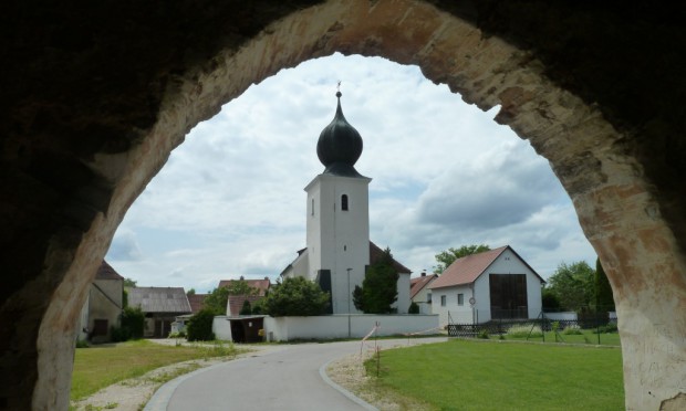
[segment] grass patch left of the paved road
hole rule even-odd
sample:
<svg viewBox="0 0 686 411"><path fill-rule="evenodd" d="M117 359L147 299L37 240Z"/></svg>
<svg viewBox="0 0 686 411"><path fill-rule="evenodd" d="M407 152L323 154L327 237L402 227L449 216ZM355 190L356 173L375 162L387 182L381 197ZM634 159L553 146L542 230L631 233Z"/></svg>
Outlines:
<svg viewBox="0 0 686 411"><path fill-rule="evenodd" d="M102 388L170 363L210 357L232 357L237 351L230 344L175 347L146 340L77 348L70 398L73 401L89 397Z"/></svg>

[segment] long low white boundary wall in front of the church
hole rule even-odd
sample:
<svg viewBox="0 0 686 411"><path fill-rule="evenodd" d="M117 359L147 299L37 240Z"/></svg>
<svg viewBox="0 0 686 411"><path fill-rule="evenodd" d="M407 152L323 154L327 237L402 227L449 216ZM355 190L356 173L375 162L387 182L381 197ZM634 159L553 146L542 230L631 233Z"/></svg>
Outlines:
<svg viewBox="0 0 686 411"><path fill-rule="evenodd" d="M376 334L378 336L422 331L426 331L426 334L438 333L438 316L432 314L343 314L318 317L264 317L264 331L271 341L362 338L370 334L376 322L380 324L380 329Z"/></svg>

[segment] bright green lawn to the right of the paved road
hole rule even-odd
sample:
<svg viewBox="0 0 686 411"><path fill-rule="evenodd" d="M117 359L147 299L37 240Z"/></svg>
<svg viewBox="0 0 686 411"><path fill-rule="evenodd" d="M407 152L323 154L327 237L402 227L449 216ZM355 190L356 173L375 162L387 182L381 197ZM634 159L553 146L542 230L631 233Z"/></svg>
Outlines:
<svg viewBox="0 0 686 411"><path fill-rule="evenodd" d="M437 410L624 409L619 348L451 339L382 351L378 382Z"/></svg>

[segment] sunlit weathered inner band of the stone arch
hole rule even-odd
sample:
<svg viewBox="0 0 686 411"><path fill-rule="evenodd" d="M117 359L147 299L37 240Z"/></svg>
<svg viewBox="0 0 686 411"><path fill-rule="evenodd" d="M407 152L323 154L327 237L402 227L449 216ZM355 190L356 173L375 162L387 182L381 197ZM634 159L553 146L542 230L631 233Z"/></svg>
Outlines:
<svg viewBox="0 0 686 411"><path fill-rule="evenodd" d="M480 108L500 105L497 120L529 138L551 161L605 265L617 299L627 409L657 409L663 401L684 397L678 381L686 380L679 367L686 357L686 319L674 316L686 308L684 252L676 226L661 215L662 207L669 204L655 197L643 164L623 150L619 143L623 136L597 107L552 84L543 74L545 63L533 53L485 36L432 4L329 1L273 22L240 49L212 55L211 63L189 64L180 72L169 68L176 77L163 97L138 103L154 107L155 125L132 126L128 131L141 138L126 149L105 145L84 156L89 176L97 178L86 179L87 190L80 191L77 204L65 209L74 211L85 202L94 203L98 212L82 212L75 222L58 219L51 225L50 235L33 245L44 255L37 281L15 285L8 299L11 306L4 308L4 313L18 309L27 324L37 324L10 331L12 352L21 360L6 363L27 378L21 386L8 381L2 398L9 404L66 408L64 370L73 355L70 324L82 299L73 296L83 296L90 283L83 273L95 272L126 208L186 133L250 83L333 51L417 64L427 78L448 84ZM105 122L102 127L122 133L118 124ZM37 301L35 296L41 302L30 308L17 303L31 301L27 297Z"/></svg>

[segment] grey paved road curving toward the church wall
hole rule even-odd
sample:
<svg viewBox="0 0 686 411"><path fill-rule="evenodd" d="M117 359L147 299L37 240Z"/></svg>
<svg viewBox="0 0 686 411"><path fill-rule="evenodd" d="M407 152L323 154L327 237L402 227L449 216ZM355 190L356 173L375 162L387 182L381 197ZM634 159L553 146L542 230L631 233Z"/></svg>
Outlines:
<svg viewBox="0 0 686 411"><path fill-rule="evenodd" d="M383 348L443 340L446 338L378 340L378 345ZM269 346L254 356L169 381L145 410L373 410L336 388L321 371L331 360L360 349L358 341ZM365 349L373 346L367 344Z"/></svg>

